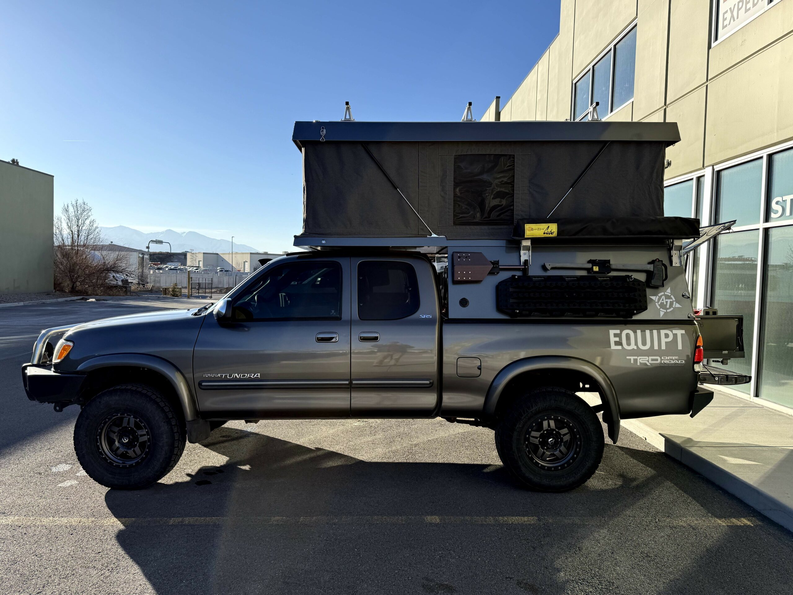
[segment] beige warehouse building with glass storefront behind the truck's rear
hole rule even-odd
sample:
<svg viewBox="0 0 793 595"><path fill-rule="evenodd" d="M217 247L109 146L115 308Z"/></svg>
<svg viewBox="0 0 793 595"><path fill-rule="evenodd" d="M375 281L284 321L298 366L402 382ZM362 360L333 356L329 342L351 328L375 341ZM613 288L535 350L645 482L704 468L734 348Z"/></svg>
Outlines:
<svg viewBox="0 0 793 595"><path fill-rule="evenodd" d="M559 33L483 121L677 122L665 211L737 220L688 263L695 305L745 317L737 386L793 407L793 0L561 0Z"/></svg>

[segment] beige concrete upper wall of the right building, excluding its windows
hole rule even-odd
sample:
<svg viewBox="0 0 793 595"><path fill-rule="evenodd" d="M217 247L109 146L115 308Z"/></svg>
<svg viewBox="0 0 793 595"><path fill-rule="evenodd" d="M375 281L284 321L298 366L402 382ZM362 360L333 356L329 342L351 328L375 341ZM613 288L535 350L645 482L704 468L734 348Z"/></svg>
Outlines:
<svg viewBox="0 0 793 595"><path fill-rule="evenodd" d="M793 139L793 0L776 0L712 47L711 4L562 0L559 34L502 99L500 119L571 117L573 80L636 21L634 100L607 119L677 122L667 178Z"/></svg>

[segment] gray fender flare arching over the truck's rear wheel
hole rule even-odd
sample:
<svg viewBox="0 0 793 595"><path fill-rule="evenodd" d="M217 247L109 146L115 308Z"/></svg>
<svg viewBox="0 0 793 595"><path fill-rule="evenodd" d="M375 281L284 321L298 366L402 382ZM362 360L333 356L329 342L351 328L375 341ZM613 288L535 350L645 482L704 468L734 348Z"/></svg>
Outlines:
<svg viewBox="0 0 793 595"><path fill-rule="evenodd" d="M616 443L619 438L619 401L617 400L617 393L614 390L614 385L609 380L600 367L594 363L588 362L585 359L573 358L561 355L540 355L538 357L531 357L526 359L516 359L514 362L504 366L496 378L493 378L488 388L487 396L485 397L485 406L483 413L488 419L496 417L496 405L498 405L501 394L509 382L525 372L533 372L538 370L574 370L587 374L595 378L595 381L600 385L601 392L603 393L603 405L609 409L611 413L611 422L608 424L608 437L611 442Z"/></svg>

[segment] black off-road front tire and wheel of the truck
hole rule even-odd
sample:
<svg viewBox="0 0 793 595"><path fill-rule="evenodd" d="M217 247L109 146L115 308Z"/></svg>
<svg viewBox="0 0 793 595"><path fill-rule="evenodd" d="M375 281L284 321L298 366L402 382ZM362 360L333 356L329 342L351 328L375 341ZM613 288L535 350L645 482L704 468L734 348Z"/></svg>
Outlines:
<svg viewBox="0 0 793 595"><path fill-rule="evenodd" d="M107 436L120 432L112 432L117 419L132 420L129 432L145 436L143 446L136 445L140 455L123 460L123 452L114 454L108 446L113 440ZM113 489L141 489L163 478L182 456L185 440L181 417L160 393L143 385L102 391L86 403L75 424L75 453L82 469L94 482Z"/></svg>

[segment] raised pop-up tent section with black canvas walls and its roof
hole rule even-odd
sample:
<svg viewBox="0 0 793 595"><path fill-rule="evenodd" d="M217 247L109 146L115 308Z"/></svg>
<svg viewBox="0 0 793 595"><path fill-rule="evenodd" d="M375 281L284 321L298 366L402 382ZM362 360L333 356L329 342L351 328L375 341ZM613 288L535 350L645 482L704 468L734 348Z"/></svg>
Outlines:
<svg viewBox="0 0 793 595"><path fill-rule="evenodd" d="M677 140L669 123L297 122L303 235L506 239L552 211L661 217Z"/></svg>

